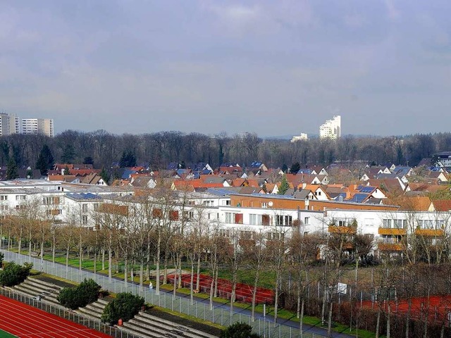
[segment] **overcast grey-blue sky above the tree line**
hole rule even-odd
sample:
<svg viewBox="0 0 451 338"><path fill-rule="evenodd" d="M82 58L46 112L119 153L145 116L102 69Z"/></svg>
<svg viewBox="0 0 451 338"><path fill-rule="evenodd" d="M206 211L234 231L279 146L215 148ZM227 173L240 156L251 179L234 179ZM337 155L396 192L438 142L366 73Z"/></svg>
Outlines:
<svg viewBox="0 0 451 338"><path fill-rule="evenodd" d="M450 0L0 2L0 110L56 132L450 132Z"/></svg>

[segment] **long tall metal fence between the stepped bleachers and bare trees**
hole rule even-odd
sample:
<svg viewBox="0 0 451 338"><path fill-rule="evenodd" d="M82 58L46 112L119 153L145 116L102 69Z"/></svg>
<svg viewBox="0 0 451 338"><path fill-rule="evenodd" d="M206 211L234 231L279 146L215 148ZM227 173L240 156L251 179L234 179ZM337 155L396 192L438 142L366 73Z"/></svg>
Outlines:
<svg viewBox="0 0 451 338"><path fill-rule="evenodd" d="M97 284L101 285L102 289L109 292L131 292L132 294L140 295L144 298L146 303L151 303L163 308L171 309L178 313L184 313L185 315L191 315L193 317L216 323L227 327L233 323L248 323L252 326L254 332L260 334L262 337L268 338L297 338L299 334L299 324L297 327L284 325L279 323L273 323L268 318L255 318L251 320L251 316L247 313L233 312L230 313L228 306L213 306L210 308L208 303L201 301L191 301L189 297L183 297L173 295L172 293L160 292L156 294L154 289L149 287L141 287L139 284L132 282L125 282L124 280L116 280L115 278L109 278L105 275L99 275L98 273L92 273L86 270L80 270L66 265L58 263L52 263L51 261L45 261L41 258L30 257L19 253L0 250L4 253L5 261L14 261L16 263L23 264L25 262L33 263L35 270L48 273L49 275L58 276L71 280L73 282L82 282L83 280L91 278ZM97 329L96 329L97 330ZM303 338L320 338L326 337L325 335L313 332L304 332Z"/></svg>

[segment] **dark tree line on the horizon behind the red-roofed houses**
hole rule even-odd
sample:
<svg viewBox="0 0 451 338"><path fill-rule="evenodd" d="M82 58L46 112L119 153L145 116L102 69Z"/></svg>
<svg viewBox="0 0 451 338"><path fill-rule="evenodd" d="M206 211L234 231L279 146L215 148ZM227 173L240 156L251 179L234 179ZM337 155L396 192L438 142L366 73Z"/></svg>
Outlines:
<svg viewBox="0 0 451 338"><path fill-rule="evenodd" d="M177 131L111 134L105 130L66 130L54 138L23 134L0 137L0 163L3 167L13 158L18 168L36 168L44 146L48 146L57 163L92 163L94 168L106 169L120 162L146 164L152 170L165 169L171 162L186 163L187 167L205 162L212 168L221 163L248 166L253 161L261 161L268 168L290 167L297 162L329 165L335 161L415 166L423 158L451 150L451 133L345 136L337 141L316 138L291 143L282 139L261 139L257 134L235 139L225 133L211 137Z"/></svg>

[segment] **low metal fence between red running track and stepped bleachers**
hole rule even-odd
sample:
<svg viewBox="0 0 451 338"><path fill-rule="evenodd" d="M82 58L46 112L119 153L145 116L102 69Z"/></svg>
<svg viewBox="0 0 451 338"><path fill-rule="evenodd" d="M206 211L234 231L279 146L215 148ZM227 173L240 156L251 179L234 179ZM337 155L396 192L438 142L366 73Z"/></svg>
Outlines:
<svg viewBox="0 0 451 338"><path fill-rule="evenodd" d="M38 301L34 297L26 296L25 294L19 294L18 292L13 292L10 289L0 288L0 294L7 296L8 298L11 299L16 299L17 301L33 306L34 308L39 308L45 312L53 313L54 315L58 315L58 317L66 318L67 320L70 320L74 323L84 325L86 327L89 327L90 329L94 329L99 332L109 334L111 337L140 338L134 334L124 332L123 330L120 330L111 325L101 323L99 320L93 320L92 318L88 318L83 315L79 315L78 313L69 311L67 308L64 308L63 306L56 306L53 304L46 303L44 301Z"/></svg>

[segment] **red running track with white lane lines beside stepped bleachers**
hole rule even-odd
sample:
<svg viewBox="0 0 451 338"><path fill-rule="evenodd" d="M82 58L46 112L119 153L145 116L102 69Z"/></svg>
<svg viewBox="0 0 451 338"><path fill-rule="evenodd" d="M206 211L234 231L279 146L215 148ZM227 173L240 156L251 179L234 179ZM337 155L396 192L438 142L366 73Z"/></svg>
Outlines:
<svg viewBox="0 0 451 338"><path fill-rule="evenodd" d="M21 338L111 338L5 296L0 296L0 329Z"/></svg>

